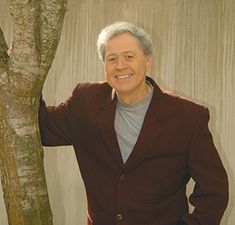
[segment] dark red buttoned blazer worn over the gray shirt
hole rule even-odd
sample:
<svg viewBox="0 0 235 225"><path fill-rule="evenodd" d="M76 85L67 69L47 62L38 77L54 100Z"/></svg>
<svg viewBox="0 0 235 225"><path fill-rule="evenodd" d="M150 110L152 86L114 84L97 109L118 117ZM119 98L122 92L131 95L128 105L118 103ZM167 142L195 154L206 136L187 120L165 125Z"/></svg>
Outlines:
<svg viewBox="0 0 235 225"><path fill-rule="evenodd" d="M42 101L42 142L74 146L90 224L218 225L228 181L208 129L208 110L163 93L147 79L153 98L125 164L114 129L117 99L106 82L79 84L58 107L46 108ZM192 214L185 194L190 178L196 183Z"/></svg>

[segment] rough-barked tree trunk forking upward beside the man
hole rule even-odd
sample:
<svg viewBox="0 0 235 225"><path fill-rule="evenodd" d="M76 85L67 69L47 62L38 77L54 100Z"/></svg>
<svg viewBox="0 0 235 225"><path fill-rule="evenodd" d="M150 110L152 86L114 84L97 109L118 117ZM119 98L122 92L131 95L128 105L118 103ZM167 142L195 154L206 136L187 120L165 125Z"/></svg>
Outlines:
<svg viewBox="0 0 235 225"><path fill-rule="evenodd" d="M0 167L10 225L52 225L38 128L43 83L59 42L66 0L9 0L13 46L0 29Z"/></svg>

